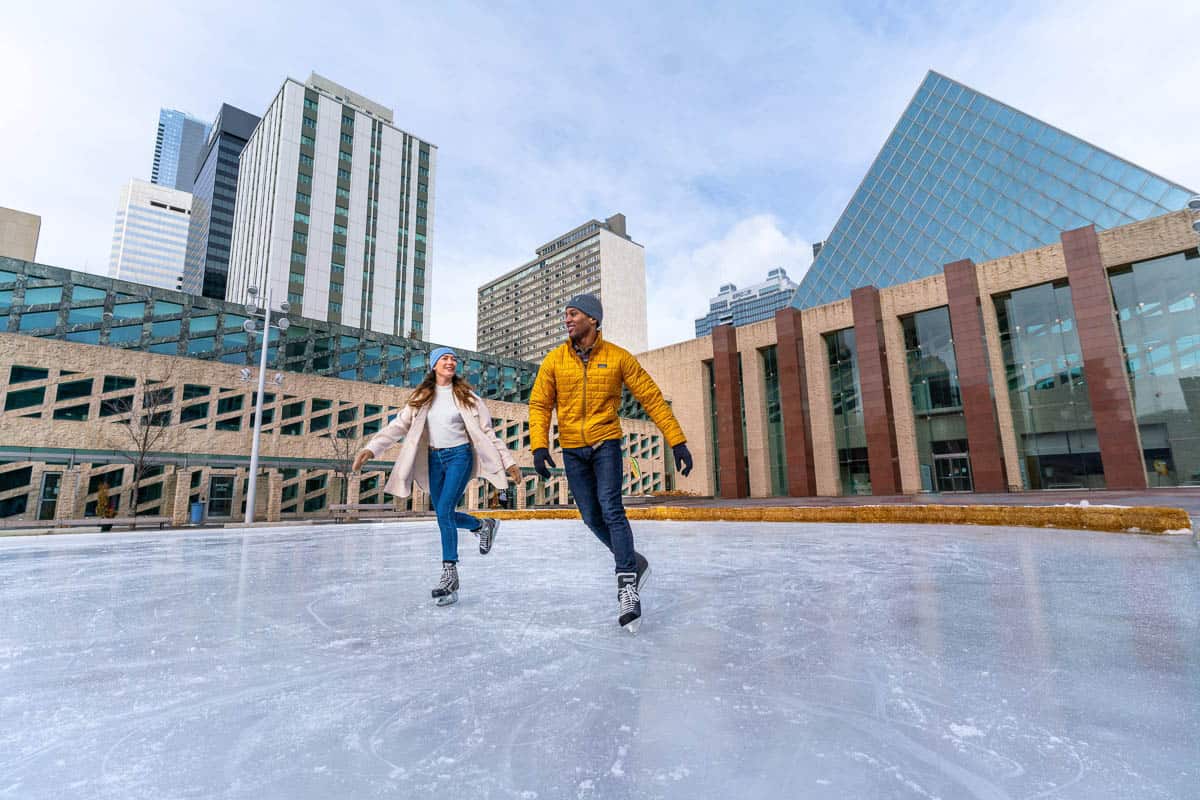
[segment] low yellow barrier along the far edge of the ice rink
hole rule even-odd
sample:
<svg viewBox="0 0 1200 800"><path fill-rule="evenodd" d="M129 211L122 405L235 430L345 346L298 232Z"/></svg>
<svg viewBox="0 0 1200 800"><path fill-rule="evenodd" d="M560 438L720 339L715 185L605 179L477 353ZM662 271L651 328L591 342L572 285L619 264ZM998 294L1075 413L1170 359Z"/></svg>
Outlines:
<svg viewBox="0 0 1200 800"><path fill-rule="evenodd" d="M478 511L497 519L578 519L575 509ZM1165 506L1002 506L1002 505L866 505L866 506L632 506L630 519L677 522L842 522L870 524L997 525L1062 528L1128 534L1190 533L1183 509Z"/></svg>

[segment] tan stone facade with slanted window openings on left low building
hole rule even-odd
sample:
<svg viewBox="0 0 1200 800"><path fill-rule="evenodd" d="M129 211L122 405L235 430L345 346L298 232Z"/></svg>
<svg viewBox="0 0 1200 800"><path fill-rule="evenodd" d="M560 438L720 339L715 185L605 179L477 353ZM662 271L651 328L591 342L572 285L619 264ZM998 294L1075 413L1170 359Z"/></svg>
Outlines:
<svg viewBox="0 0 1200 800"><path fill-rule="evenodd" d="M347 475L337 464L386 425L412 390L282 374L282 384L269 381L264 391L257 517L323 516L343 497L400 504L382 488L392 452L359 475ZM176 523L200 499L214 517L244 515L257 383L244 383L239 367L0 333L0 516L31 519L43 510L60 519L92 516L101 483L108 485L122 516L130 513L134 489L138 513ZM560 471L548 482L533 471L528 407L500 401L487 401L487 407L524 474L514 489L517 505L568 503ZM636 482L626 474L626 492L667 488L661 433L637 420L624 420L623 427L625 450L641 468ZM142 439L148 445L139 447L131 432L149 432ZM134 487L132 461L139 450L146 452L148 468ZM59 476L53 487L43 487L47 474ZM53 511L42 501L52 494ZM491 494L484 481L473 481L466 507L487 505ZM416 491L403 507L427 506Z"/></svg>

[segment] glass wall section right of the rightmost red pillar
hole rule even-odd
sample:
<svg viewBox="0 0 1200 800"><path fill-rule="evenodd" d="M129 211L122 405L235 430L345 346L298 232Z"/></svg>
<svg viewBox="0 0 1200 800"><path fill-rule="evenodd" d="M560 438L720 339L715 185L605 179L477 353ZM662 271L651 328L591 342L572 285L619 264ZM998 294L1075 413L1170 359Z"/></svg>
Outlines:
<svg viewBox="0 0 1200 800"><path fill-rule="evenodd" d="M1148 486L1200 485L1200 254L1109 275Z"/></svg>

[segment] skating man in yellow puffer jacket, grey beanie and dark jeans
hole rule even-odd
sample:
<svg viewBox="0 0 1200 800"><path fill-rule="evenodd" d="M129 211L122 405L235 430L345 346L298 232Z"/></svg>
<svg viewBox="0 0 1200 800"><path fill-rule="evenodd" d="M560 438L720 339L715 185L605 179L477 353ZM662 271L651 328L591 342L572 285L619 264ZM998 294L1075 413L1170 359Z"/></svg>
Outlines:
<svg viewBox="0 0 1200 800"><path fill-rule="evenodd" d="M566 483L584 524L612 552L617 567L618 622L636 633L641 626L641 589L649 563L634 549L634 531L620 500L624 474L620 452L622 386L662 431L683 475L691 471L691 453L671 407L654 379L628 350L600 335L604 308L595 295L581 294L566 305L569 339L550 351L538 369L529 395L529 444L534 469L542 480L557 467L550 457L550 413L558 411Z"/></svg>

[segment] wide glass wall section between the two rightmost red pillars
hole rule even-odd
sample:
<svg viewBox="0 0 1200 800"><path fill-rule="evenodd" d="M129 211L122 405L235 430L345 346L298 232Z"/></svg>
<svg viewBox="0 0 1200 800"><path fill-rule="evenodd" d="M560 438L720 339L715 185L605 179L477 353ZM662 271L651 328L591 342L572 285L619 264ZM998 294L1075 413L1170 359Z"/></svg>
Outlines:
<svg viewBox="0 0 1200 800"><path fill-rule="evenodd" d="M1043 283L994 302L1026 488L1103 488L1070 287Z"/></svg>

